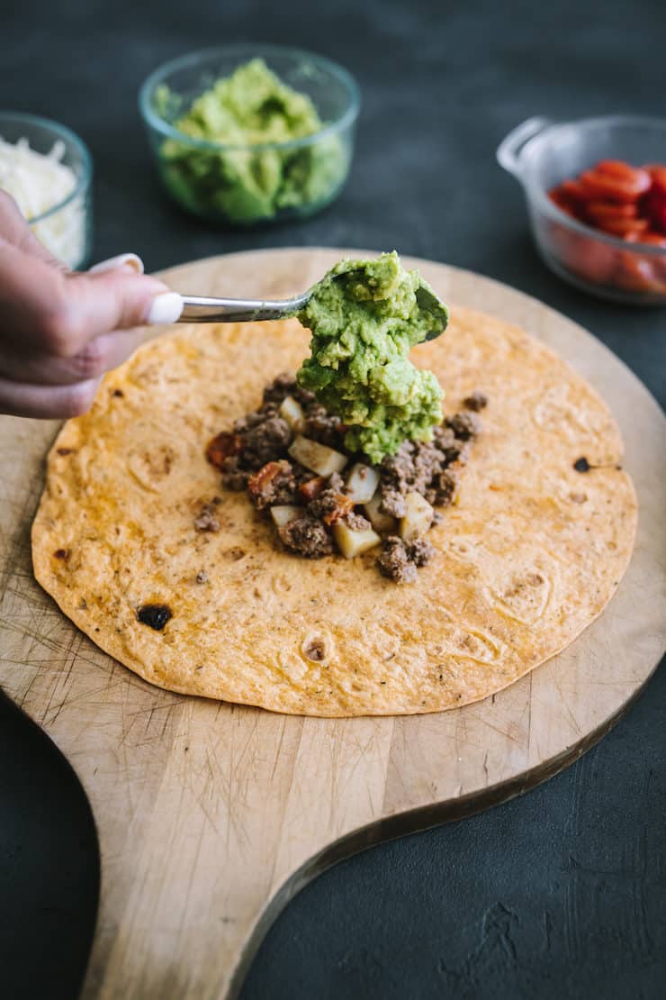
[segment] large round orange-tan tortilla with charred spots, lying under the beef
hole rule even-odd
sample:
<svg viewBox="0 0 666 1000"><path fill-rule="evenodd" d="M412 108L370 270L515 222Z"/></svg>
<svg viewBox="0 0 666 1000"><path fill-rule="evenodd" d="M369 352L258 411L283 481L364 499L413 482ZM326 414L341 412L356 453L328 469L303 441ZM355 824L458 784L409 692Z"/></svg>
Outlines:
<svg viewBox="0 0 666 1000"><path fill-rule="evenodd" d="M267 382L299 367L309 334L296 320L184 328L105 378L49 455L32 532L38 581L98 646L185 694L390 715L458 707L513 683L614 593L636 498L619 431L582 378L517 327L451 314L414 361L436 373L445 412L475 389L490 402L458 502L428 535L438 553L415 584L382 578L376 553L290 555L205 459L209 439L255 409ZM575 471L583 456L599 468ZM222 530L196 531L215 496ZM163 631L138 621L148 603L171 608ZM322 649L323 660L309 657Z"/></svg>

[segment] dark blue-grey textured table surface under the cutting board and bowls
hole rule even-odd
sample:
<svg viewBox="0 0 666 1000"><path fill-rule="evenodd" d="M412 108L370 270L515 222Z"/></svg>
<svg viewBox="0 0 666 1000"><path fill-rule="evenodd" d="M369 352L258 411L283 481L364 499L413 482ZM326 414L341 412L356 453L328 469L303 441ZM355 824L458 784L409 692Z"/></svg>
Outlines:
<svg viewBox="0 0 666 1000"><path fill-rule="evenodd" d="M665 37L663 0L42 0L3 10L0 93L7 108L59 119L88 142L97 259L134 250L153 270L250 247L395 247L567 313L663 405L666 311L606 305L554 278L493 154L536 113L663 114ZM241 40L319 50L362 88L349 184L298 226L195 222L161 195L147 156L143 77L189 49ZM662 996L665 708L662 671L610 736L547 785L322 876L268 935L243 1000ZM95 851L72 773L0 701L3 1000L76 996Z"/></svg>

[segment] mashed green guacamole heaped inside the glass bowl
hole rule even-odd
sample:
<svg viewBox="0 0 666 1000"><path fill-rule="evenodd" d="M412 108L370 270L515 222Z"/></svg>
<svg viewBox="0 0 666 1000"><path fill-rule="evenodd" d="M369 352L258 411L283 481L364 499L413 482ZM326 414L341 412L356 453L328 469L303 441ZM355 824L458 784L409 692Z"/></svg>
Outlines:
<svg viewBox="0 0 666 1000"><path fill-rule="evenodd" d="M184 135L230 147L198 149L178 139L162 143L165 183L198 215L252 223L287 209L307 214L330 201L346 176L348 150L334 134L292 149L252 149L304 139L324 128L310 97L283 83L263 59L217 80L185 114L179 114L178 95L166 87L157 104Z"/></svg>

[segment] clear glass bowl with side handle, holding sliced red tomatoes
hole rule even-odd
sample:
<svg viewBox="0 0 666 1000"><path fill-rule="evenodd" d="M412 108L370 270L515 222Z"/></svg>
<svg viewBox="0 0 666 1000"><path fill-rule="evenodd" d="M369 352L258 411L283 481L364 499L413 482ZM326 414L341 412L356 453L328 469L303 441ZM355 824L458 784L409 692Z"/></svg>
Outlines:
<svg viewBox="0 0 666 1000"><path fill-rule="evenodd" d="M539 253L548 267L593 295L633 305L666 304L666 249L628 242L562 212L548 191L599 160L666 163L666 121L608 115L555 123L530 118L497 149L522 184Z"/></svg>

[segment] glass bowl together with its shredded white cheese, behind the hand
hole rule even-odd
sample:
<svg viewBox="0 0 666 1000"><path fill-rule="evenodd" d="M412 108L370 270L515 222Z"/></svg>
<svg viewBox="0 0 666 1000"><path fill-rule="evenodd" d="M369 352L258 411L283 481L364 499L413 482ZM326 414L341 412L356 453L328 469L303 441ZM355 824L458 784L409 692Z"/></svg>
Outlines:
<svg viewBox="0 0 666 1000"><path fill-rule="evenodd" d="M85 143L65 125L0 111L0 190L35 236L72 270L90 255L93 166Z"/></svg>

